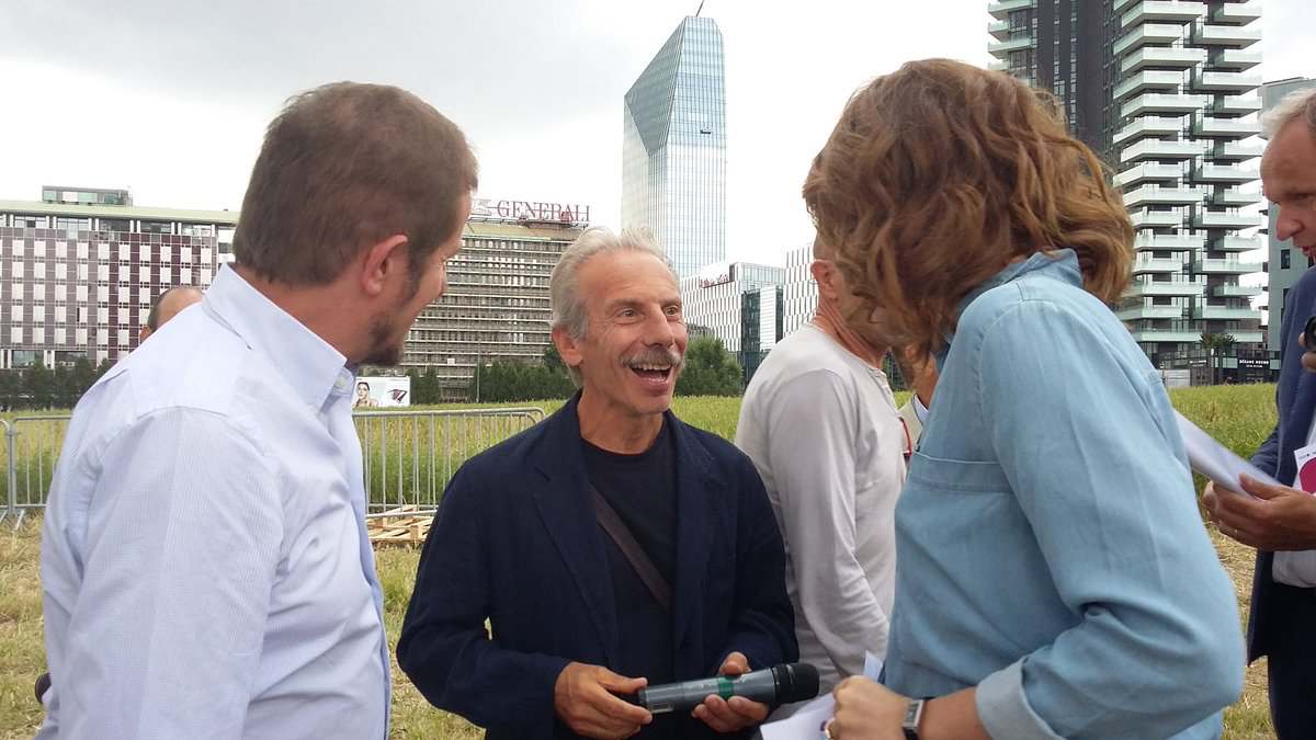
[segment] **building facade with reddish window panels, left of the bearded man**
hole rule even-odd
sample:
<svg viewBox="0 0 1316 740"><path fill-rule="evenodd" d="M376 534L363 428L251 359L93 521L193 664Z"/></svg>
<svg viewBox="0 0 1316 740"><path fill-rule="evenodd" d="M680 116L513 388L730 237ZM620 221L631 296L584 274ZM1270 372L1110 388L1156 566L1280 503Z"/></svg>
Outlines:
<svg viewBox="0 0 1316 740"><path fill-rule="evenodd" d="M164 290L205 288L237 213L145 208L126 190L0 200L0 369L118 361Z"/></svg>

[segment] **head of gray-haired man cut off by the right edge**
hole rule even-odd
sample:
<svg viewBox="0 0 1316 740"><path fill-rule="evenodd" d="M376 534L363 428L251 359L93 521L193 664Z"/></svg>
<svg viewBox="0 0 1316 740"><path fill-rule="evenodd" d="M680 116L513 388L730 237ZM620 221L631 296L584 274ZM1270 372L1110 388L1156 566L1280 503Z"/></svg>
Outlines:
<svg viewBox="0 0 1316 740"><path fill-rule="evenodd" d="M1261 117L1261 129L1270 140L1261 187L1278 208L1275 238L1291 240L1308 261L1316 259L1316 90L1287 95ZM1303 367L1316 371L1316 346L1303 348Z"/></svg>

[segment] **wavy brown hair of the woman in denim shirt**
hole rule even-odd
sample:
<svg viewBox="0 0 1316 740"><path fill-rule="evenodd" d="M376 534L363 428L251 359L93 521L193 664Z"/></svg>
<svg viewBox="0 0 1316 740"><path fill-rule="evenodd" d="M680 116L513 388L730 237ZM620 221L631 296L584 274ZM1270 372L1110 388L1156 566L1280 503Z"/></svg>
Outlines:
<svg viewBox="0 0 1316 740"><path fill-rule="evenodd" d="M855 92L804 200L850 290L925 353L974 287L1033 253L1073 249L1108 304L1129 282L1133 225L1054 99L961 62L908 62Z"/></svg>

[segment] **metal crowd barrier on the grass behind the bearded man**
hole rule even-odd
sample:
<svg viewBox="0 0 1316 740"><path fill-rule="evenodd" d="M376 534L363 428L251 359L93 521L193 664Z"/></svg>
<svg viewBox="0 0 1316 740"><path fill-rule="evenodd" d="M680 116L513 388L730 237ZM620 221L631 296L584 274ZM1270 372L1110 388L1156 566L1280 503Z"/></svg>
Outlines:
<svg viewBox="0 0 1316 740"><path fill-rule="evenodd" d="M0 419L0 521L46 506L67 413ZM367 516L433 514L466 460L544 420L538 407L358 411Z"/></svg>

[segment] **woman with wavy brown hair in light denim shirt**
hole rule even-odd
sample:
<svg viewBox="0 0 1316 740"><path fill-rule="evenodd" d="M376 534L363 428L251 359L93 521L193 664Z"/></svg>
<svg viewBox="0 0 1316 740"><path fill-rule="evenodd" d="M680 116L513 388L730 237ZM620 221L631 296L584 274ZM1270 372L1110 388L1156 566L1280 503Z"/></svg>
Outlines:
<svg viewBox="0 0 1316 740"><path fill-rule="evenodd" d="M1133 229L1092 151L1008 75L911 62L850 100L804 199L848 321L941 370L896 506L886 686L844 682L829 735L1219 736L1237 606L1108 305Z"/></svg>

